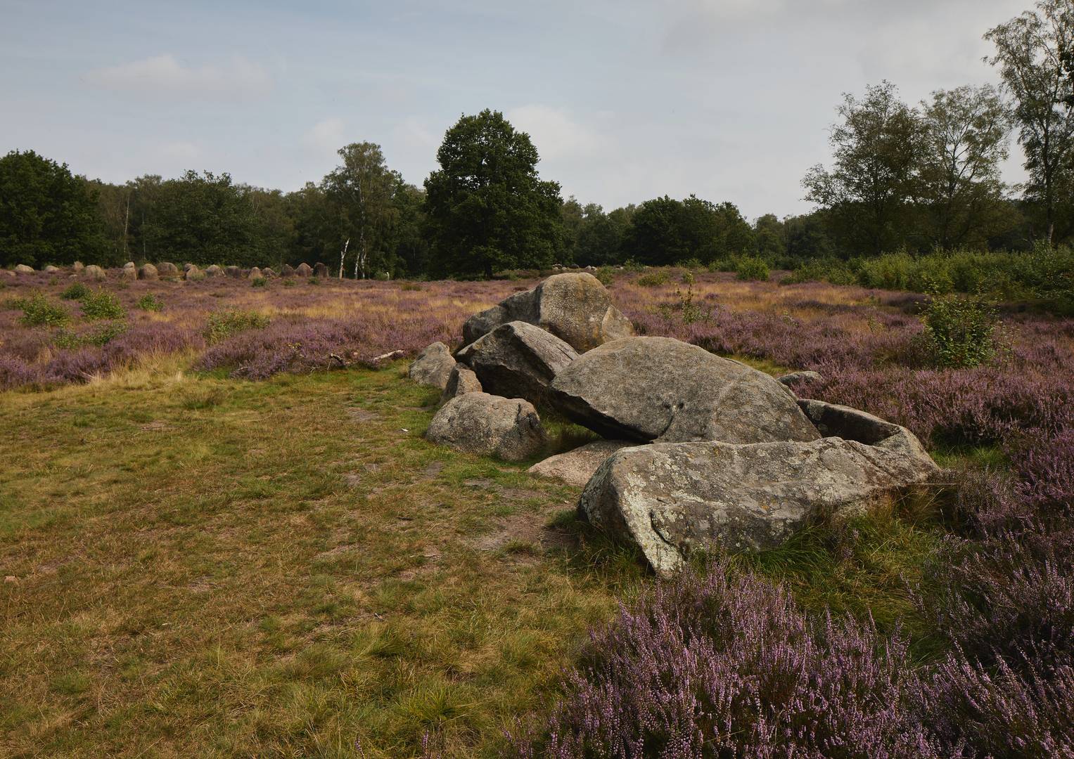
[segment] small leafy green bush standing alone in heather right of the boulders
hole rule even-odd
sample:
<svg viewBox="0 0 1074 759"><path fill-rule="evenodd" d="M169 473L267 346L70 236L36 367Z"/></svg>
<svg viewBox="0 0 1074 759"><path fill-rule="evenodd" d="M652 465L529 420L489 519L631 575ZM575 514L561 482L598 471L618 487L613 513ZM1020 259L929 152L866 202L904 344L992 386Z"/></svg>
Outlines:
<svg viewBox="0 0 1074 759"><path fill-rule="evenodd" d="M996 355L999 318L981 297L935 295L921 321L924 344L937 366L970 368Z"/></svg>

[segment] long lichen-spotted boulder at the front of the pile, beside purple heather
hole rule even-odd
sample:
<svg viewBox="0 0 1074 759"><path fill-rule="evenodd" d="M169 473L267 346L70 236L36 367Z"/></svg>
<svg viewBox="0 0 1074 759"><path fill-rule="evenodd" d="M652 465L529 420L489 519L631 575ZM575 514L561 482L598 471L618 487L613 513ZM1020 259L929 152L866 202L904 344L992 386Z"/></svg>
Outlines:
<svg viewBox="0 0 1074 759"><path fill-rule="evenodd" d="M808 524L865 513L934 470L931 461L831 437L653 443L612 454L578 510L666 574L699 549L775 546Z"/></svg>

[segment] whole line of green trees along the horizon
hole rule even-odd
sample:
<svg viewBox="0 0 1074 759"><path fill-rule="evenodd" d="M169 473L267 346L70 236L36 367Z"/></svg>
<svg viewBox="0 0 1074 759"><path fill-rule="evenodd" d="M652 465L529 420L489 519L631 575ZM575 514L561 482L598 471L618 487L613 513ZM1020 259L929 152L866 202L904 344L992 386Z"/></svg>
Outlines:
<svg viewBox="0 0 1074 759"><path fill-rule="evenodd" d="M1003 86L911 105L889 82L846 94L832 160L802 180L809 214L752 222L730 202L655 198L606 211L563 200L529 136L494 111L445 134L417 187L374 143L339 149L293 192L188 171L122 185L73 176L32 150L0 158L0 265L321 261L339 276L492 276L554 263L779 266L937 248L1025 250L1074 237L1074 0L1041 0L985 34ZM1027 181L1000 166L1016 135Z"/></svg>

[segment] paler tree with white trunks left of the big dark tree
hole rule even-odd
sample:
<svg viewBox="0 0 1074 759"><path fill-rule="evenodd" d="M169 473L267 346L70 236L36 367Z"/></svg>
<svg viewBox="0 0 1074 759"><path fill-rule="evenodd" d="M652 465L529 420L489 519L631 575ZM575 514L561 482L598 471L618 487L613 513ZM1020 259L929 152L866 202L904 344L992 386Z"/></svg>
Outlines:
<svg viewBox="0 0 1074 759"><path fill-rule="evenodd" d="M396 176L374 143L351 143L338 154L343 163L324 177L324 191L337 223L339 277L349 257L355 279L379 268L391 271L386 238L398 215L392 204Z"/></svg>

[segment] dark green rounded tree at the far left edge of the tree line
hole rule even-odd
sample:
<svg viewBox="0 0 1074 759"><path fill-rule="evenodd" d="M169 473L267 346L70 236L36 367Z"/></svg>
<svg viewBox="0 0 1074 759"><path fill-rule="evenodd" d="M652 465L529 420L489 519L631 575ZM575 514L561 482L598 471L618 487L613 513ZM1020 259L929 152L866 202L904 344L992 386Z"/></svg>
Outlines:
<svg viewBox="0 0 1074 759"><path fill-rule="evenodd" d="M0 266L104 263L97 195L82 177L33 150L0 158Z"/></svg>

